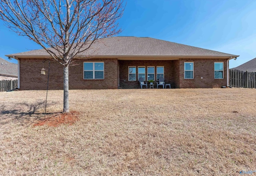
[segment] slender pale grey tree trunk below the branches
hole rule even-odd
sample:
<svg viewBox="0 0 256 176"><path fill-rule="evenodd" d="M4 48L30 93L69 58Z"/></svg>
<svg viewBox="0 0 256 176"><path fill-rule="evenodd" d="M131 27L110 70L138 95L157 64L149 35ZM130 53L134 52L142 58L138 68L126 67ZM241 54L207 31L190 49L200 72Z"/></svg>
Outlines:
<svg viewBox="0 0 256 176"><path fill-rule="evenodd" d="M64 103L63 112L69 112L69 102L68 102L68 65L64 66L63 69L63 84L64 84Z"/></svg>

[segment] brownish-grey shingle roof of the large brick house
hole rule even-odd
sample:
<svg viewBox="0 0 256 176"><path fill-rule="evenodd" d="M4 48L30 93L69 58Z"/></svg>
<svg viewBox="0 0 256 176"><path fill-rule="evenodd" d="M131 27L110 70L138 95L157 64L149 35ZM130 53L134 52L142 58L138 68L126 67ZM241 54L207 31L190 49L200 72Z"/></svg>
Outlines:
<svg viewBox="0 0 256 176"><path fill-rule="evenodd" d="M238 57L209 49L192 47L150 37L109 37L96 41L88 51L79 56L98 57ZM6 55L8 57L47 57L44 49Z"/></svg>

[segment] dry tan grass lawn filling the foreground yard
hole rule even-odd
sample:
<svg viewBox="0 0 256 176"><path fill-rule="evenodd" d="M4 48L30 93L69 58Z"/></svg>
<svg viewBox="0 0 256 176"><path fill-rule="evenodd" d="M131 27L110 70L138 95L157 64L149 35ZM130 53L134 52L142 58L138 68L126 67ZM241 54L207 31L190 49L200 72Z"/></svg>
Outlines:
<svg viewBox="0 0 256 176"><path fill-rule="evenodd" d="M34 126L46 117L45 96L0 92L0 175L256 170L256 89L70 90L79 120ZM61 112L62 97L48 91L46 112Z"/></svg>

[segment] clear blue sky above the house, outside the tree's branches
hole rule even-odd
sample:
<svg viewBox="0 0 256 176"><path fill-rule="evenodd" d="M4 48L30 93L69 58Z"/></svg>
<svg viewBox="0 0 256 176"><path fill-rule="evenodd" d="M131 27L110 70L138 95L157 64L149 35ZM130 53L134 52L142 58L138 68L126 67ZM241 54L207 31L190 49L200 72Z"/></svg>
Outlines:
<svg viewBox="0 0 256 176"><path fill-rule="evenodd" d="M127 0L118 36L152 37L240 55L230 68L256 57L256 0ZM0 22L0 57L41 47ZM16 62L14 59L11 62Z"/></svg>

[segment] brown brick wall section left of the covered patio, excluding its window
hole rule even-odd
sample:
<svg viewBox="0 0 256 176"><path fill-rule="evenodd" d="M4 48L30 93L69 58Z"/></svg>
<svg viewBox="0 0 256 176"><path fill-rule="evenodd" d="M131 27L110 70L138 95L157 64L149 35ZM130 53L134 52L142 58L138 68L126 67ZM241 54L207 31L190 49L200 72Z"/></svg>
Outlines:
<svg viewBox="0 0 256 176"><path fill-rule="evenodd" d="M20 59L20 90L46 90L48 61L44 63L46 75L41 74L44 59ZM84 80L83 62L104 62L103 80ZM117 89L117 59L79 59L69 66L69 89ZM63 66L50 61L49 89L63 89Z"/></svg>

